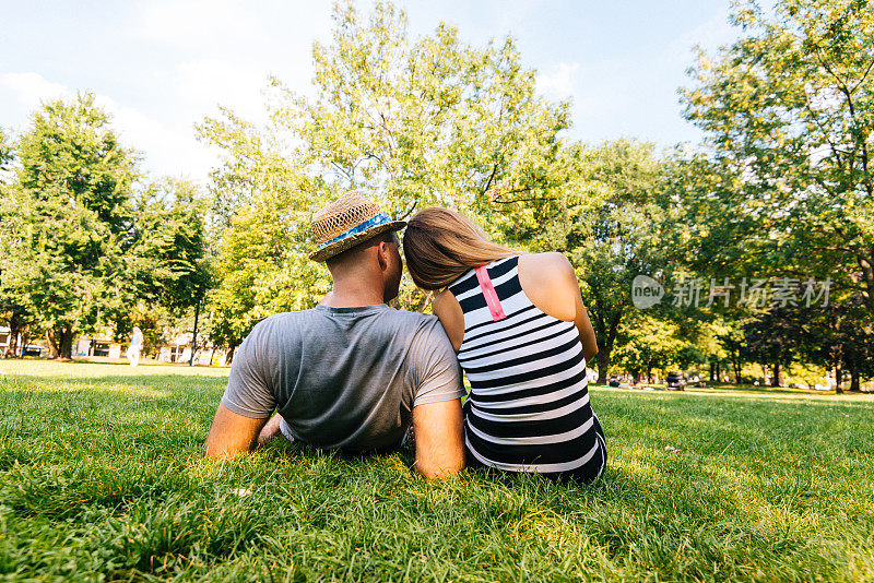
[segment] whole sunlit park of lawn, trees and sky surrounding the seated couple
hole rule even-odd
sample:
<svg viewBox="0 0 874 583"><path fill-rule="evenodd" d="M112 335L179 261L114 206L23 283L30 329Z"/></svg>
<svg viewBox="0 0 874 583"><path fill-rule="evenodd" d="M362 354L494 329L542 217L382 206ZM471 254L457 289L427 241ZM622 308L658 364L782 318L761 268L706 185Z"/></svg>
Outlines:
<svg viewBox="0 0 874 583"><path fill-rule="evenodd" d="M874 8L423 7L4 12L0 578L874 581ZM137 325L227 364L329 289L309 221L350 188L568 257L601 479L433 484L409 449L279 440L211 463L227 367L75 356ZM635 307L639 276L661 302ZM428 304L405 278L398 305ZM604 385L670 370L707 386Z"/></svg>

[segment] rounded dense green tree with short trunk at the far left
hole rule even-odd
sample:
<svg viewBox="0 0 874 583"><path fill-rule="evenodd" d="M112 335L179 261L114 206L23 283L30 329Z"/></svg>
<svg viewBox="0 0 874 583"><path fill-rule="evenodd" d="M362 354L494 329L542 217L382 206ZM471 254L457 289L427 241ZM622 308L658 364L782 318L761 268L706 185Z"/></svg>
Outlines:
<svg viewBox="0 0 874 583"><path fill-rule="evenodd" d="M0 285L47 331L50 355L70 358L75 331L104 322L122 300L133 155L94 96L80 94L33 114L17 160L0 213L11 241Z"/></svg>

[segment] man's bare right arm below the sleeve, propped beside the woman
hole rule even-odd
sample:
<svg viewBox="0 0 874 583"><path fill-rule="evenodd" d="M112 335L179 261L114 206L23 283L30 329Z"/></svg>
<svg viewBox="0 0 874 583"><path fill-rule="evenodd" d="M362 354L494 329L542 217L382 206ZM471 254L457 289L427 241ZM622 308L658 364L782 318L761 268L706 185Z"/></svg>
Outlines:
<svg viewBox="0 0 874 583"><path fill-rule="evenodd" d="M413 407L413 431L416 436L416 472L426 478L445 479L464 468L460 400Z"/></svg>

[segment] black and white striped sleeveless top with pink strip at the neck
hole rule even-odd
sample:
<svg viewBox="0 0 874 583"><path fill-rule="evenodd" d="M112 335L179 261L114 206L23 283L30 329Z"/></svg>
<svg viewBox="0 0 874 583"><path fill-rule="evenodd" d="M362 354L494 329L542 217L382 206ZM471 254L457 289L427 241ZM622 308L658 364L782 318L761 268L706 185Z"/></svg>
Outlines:
<svg viewBox="0 0 874 583"><path fill-rule="evenodd" d="M518 257L494 261L449 286L464 312L458 359L471 383L469 455L507 472L597 477L606 448L577 326L528 299L518 264Z"/></svg>

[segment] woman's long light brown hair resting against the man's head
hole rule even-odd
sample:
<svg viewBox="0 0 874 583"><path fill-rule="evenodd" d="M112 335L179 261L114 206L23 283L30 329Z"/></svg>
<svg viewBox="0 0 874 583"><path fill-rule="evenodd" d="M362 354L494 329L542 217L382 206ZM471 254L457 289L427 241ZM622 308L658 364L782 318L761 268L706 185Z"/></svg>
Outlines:
<svg viewBox="0 0 874 583"><path fill-rule="evenodd" d="M403 254L413 282L422 289L442 289L468 270L516 251L488 240L480 225L456 211L432 206L406 224Z"/></svg>

